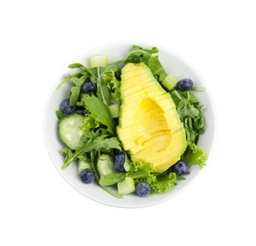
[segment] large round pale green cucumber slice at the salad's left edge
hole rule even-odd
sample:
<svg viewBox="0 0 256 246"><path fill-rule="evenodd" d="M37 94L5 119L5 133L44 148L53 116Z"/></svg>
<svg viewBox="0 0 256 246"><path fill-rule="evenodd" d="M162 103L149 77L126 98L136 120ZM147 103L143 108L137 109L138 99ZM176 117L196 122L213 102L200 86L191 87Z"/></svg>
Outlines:
<svg viewBox="0 0 256 246"><path fill-rule="evenodd" d="M81 130L83 116L71 114L59 122L59 135L69 149L77 149L79 140L83 134Z"/></svg>

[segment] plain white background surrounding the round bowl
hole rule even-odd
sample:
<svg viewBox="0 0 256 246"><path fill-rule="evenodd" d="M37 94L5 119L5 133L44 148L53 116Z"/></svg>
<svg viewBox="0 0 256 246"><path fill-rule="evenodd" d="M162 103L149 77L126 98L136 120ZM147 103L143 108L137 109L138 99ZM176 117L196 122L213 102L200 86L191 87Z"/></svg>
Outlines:
<svg viewBox="0 0 256 246"><path fill-rule="evenodd" d="M2 1L1 245L256 245L254 1ZM165 46L210 86L218 135L183 193L120 209L83 197L51 163L46 98L70 62L101 44Z"/></svg>

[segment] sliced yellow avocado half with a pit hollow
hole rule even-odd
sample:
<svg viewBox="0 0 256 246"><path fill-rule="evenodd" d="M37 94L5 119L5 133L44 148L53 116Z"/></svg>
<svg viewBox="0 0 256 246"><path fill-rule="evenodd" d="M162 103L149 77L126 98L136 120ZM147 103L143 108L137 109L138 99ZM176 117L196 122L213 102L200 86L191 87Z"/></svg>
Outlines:
<svg viewBox="0 0 256 246"><path fill-rule="evenodd" d="M152 163L162 173L187 147L174 100L144 63L127 63L121 71L119 140L134 162Z"/></svg>

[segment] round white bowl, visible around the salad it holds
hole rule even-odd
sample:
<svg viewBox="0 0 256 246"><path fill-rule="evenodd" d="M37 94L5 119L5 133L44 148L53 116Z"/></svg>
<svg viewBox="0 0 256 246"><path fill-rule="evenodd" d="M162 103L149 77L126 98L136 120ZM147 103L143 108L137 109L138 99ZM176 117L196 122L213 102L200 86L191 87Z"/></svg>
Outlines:
<svg viewBox="0 0 256 246"><path fill-rule="evenodd" d="M208 85L204 79L202 79L201 76L194 70L194 68L192 68L192 65L186 62L184 59L180 58L172 51L156 44L147 44L141 42L120 42L114 44L106 44L95 48L83 54L80 58L73 62L81 62L85 66L89 66L89 58L97 54L107 55L109 62L124 60L133 44L140 45L144 48L151 48L156 46L159 49L159 60L163 64L167 73L172 73L177 79L192 79L194 86L205 87L204 92L194 92L194 94L196 97L198 97L201 104L204 105L203 112L206 119L206 132L200 136L198 145L206 149L210 157L210 152L213 148L216 132L216 116L214 104L212 102L212 97L210 96L210 89ZM70 63L73 62L71 61ZM64 73L60 76L59 79L56 80L49 94L49 97L47 98L44 117L44 134L46 140L46 149L54 166L64 177L64 180L68 184L72 185L76 190L81 192L82 195L96 202L101 202L106 205L117 207L131 208L154 205L159 202L165 202L171 198L174 198L175 195L192 184L192 182L198 177L202 170L206 168L204 167L203 169L200 169L197 165L193 165L190 168L191 174L186 176L186 180L178 181L178 184L174 185L169 190L169 192L150 195L144 198L140 198L134 194L129 194L124 196L122 199L118 199L104 191L98 184L83 184L77 175L76 165L71 164L64 170L62 169L64 164L64 156L60 153L60 150L64 149L64 145L58 136L58 119L55 112L57 109L59 109L60 103L64 100L64 98L69 96L70 83L64 83L64 85L59 90L56 90L56 87L68 73L74 73L74 70L69 69L68 67L65 68Z"/></svg>

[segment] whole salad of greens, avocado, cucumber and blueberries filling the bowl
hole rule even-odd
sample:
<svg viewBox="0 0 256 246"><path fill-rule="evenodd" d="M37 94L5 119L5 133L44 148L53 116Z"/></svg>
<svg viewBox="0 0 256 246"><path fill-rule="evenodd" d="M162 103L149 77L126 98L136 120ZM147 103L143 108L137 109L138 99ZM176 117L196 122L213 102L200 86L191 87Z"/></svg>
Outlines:
<svg viewBox="0 0 256 246"><path fill-rule="evenodd" d="M205 119L193 94L204 88L168 75L157 53L133 45L122 61L96 55L90 67L72 63L57 87L71 84L56 111L62 168L77 165L82 183L117 198L167 192L208 159L197 145Z"/></svg>

